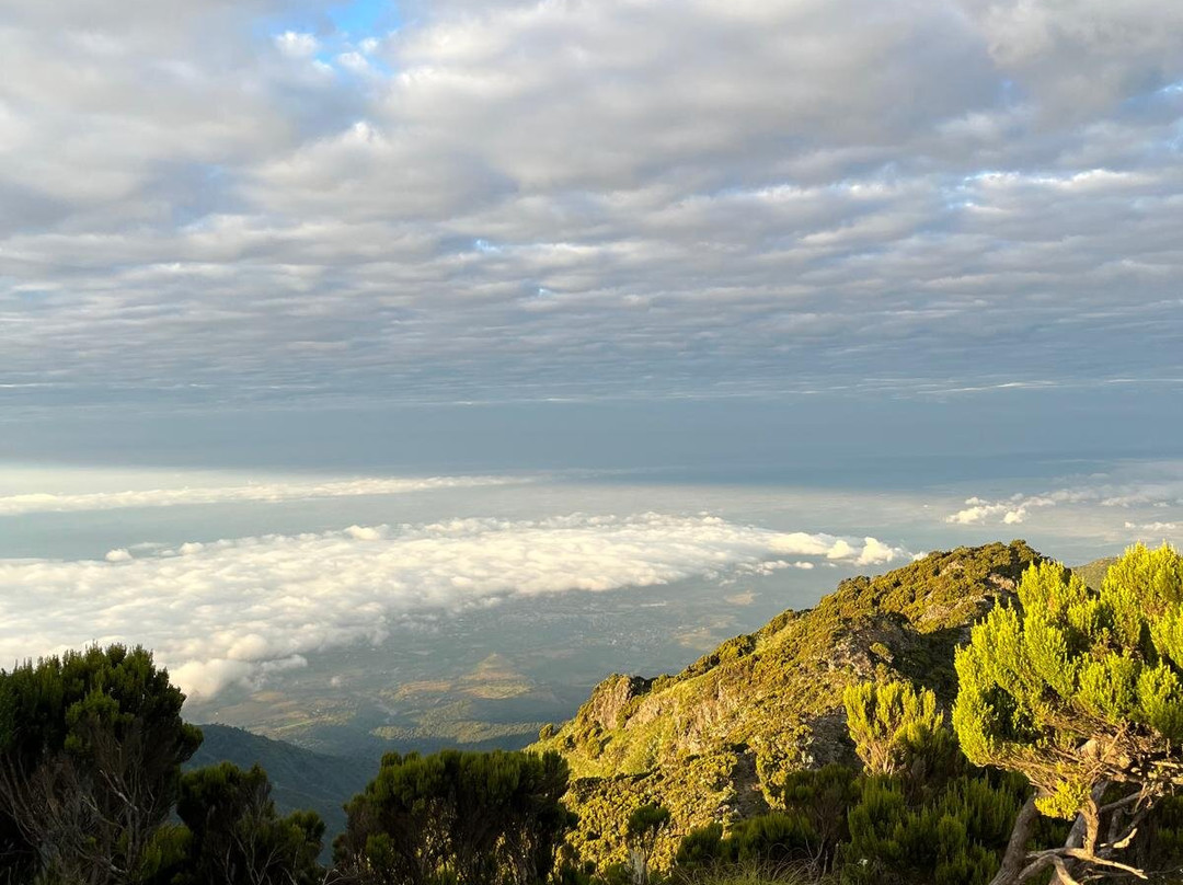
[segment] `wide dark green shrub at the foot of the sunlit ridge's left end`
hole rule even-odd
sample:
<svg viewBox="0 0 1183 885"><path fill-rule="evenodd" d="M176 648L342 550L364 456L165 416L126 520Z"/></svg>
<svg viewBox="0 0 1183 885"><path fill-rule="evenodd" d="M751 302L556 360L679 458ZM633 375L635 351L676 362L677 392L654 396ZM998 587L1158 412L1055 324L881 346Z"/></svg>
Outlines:
<svg viewBox="0 0 1183 885"><path fill-rule="evenodd" d="M560 802L567 780L552 752L388 754L347 806L338 871L358 883L543 883L574 822Z"/></svg>

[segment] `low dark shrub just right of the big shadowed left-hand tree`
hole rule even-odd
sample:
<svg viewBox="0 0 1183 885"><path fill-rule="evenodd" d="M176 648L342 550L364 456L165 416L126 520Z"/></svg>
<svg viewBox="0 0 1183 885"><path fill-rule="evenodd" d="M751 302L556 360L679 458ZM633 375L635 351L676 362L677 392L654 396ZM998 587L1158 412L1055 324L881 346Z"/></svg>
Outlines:
<svg viewBox="0 0 1183 885"><path fill-rule="evenodd" d="M324 822L313 812L276 813L266 773L222 762L181 779L177 834L186 851L173 885L315 885Z"/></svg>

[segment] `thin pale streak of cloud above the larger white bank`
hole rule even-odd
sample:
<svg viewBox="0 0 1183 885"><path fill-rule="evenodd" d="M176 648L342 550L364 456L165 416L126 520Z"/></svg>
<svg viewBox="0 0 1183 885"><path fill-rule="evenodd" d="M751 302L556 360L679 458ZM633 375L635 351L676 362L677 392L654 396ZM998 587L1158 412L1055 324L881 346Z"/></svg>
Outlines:
<svg viewBox="0 0 1183 885"><path fill-rule="evenodd" d="M228 504L244 500L276 503L316 498L349 498L366 495L406 495L437 489L476 489L532 482L530 477L424 477L361 478L322 483L266 482L237 486L141 489L118 492L60 495L32 492L0 496L0 516L66 513L122 508L167 508L194 504ZM355 527L356 528L356 527ZM361 531L361 529L358 529Z"/></svg>

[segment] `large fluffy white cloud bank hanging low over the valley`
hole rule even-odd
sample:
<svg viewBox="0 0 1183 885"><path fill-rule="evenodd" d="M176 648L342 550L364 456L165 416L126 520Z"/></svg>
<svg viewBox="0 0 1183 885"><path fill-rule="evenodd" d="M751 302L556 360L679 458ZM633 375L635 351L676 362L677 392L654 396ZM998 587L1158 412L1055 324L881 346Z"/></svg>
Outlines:
<svg viewBox="0 0 1183 885"><path fill-rule="evenodd" d="M897 555L874 538L641 513L354 525L136 557L118 550L106 561L6 560L0 660L88 642L138 642L155 650L186 691L209 698L303 666L325 648L381 641L420 614L509 596L725 579L736 570L769 574L789 564L778 560L786 550L848 564Z"/></svg>

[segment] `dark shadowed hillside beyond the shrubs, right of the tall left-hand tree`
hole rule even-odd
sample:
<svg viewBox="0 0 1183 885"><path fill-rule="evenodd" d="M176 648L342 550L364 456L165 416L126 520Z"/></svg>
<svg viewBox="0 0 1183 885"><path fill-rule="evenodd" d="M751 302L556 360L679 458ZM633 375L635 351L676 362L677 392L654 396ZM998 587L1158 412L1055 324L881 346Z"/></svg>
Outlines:
<svg viewBox="0 0 1183 885"><path fill-rule="evenodd" d="M377 755L374 758L325 756L228 725L200 728L205 741L187 769L219 762L232 762L240 768L263 766L280 812L308 808L324 819L327 846L345 828L342 805L377 774Z"/></svg>

